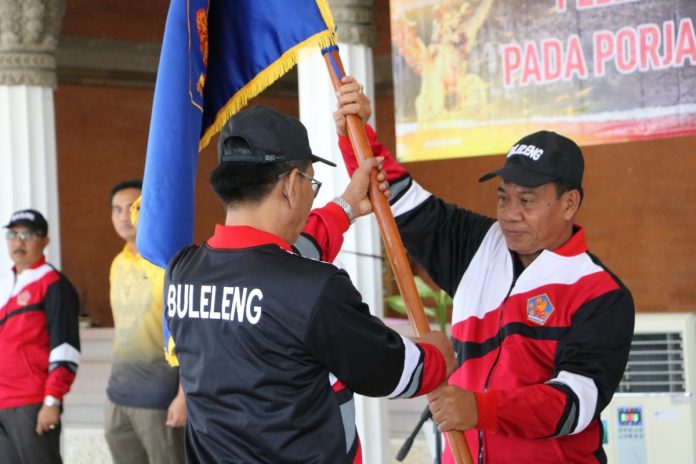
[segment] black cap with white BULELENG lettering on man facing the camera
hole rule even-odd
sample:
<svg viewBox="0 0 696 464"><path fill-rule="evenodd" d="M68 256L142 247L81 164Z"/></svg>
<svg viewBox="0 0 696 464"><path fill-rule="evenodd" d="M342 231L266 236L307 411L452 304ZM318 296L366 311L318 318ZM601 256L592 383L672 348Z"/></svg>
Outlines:
<svg viewBox="0 0 696 464"><path fill-rule="evenodd" d="M582 191L585 161L580 147L555 132L539 131L520 139L510 148L505 165L482 176L484 182L495 176L525 187L537 187L563 180Z"/></svg>

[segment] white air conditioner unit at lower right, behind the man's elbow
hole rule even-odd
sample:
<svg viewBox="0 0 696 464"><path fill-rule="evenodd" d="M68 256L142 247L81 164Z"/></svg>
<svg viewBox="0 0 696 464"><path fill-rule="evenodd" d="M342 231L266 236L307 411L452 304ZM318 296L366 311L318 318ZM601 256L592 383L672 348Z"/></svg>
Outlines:
<svg viewBox="0 0 696 464"><path fill-rule="evenodd" d="M609 464L696 463L696 313L638 313L628 365L602 412Z"/></svg>

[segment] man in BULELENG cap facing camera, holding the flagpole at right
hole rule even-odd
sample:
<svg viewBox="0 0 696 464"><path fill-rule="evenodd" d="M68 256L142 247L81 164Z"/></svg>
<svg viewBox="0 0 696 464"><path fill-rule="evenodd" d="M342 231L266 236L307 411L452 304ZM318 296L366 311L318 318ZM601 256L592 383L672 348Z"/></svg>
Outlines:
<svg viewBox="0 0 696 464"><path fill-rule="evenodd" d="M334 114L349 171L345 115L367 120L352 78ZM466 431L480 463L606 462L600 413L623 375L633 333L628 289L587 251L578 146L553 132L515 144L499 177L497 220L425 191L366 127L384 157L392 211L413 256L452 295L460 366L428 395L442 432ZM449 449L445 462L452 462Z"/></svg>

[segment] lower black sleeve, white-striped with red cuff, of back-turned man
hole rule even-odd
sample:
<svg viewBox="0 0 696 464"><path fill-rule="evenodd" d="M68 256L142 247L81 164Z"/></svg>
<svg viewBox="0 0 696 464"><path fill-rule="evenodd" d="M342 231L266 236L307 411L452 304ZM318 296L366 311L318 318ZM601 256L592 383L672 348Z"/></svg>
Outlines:
<svg viewBox="0 0 696 464"><path fill-rule="evenodd" d="M307 350L352 391L411 397L444 381L444 359L432 346L402 338L370 315L343 271L324 287L304 337Z"/></svg>

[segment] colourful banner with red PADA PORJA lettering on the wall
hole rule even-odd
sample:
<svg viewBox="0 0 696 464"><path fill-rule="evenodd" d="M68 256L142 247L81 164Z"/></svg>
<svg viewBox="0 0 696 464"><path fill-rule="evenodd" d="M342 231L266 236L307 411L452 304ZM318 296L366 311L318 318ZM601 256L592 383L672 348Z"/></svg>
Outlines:
<svg viewBox="0 0 696 464"><path fill-rule="evenodd" d="M391 0L402 161L696 133L694 0Z"/></svg>

